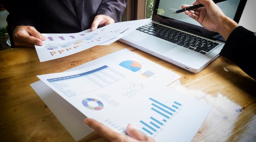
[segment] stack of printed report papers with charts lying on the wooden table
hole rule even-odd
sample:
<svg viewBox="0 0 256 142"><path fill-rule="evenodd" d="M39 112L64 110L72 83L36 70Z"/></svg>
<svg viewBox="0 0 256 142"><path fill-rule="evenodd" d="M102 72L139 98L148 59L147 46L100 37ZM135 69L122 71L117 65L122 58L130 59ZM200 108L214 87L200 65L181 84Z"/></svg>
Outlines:
<svg viewBox="0 0 256 142"><path fill-rule="evenodd" d="M31 86L76 140L91 132L81 125L89 117L120 133L131 123L156 141L191 141L211 110L167 87L179 75L127 49L38 78Z"/></svg>

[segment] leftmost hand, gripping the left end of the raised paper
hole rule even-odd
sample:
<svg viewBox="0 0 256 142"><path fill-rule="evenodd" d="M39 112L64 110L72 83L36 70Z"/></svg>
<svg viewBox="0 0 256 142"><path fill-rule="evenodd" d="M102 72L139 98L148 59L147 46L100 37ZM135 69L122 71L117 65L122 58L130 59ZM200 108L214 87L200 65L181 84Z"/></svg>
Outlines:
<svg viewBox="0 0 256 142"><path fill-rule="evenodd" d="M33 26L16 26L13 30L13 42L15 47L42 46L42 41L44 40L46 40L46 37Z"/></svg>

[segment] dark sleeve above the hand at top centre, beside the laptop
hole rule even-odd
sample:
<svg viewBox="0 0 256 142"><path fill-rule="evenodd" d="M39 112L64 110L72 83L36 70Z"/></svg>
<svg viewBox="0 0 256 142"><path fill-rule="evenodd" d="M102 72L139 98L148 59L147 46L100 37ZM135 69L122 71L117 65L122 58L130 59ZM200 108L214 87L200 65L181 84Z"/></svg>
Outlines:
<svg viewBox="0 0 256 142"><path fill-rule="evenodd" d="M98 9L97 15L104 14L115 22L120 22L128 0L105 0Z"/></svg>

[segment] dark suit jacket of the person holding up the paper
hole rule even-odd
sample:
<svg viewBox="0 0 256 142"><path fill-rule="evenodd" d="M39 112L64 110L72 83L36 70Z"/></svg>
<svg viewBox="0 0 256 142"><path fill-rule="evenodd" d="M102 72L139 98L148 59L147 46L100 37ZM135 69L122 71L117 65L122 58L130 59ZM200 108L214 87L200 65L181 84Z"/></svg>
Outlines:
<svg viewBox="0 0 256 142"><path fill-rule="evenodd" d="M41 33L72 33L91 27L96 15L120 22L128 0L4 0L12 38L17 25L36 27ZM13 44L12 44L13 45Z"/></svg>

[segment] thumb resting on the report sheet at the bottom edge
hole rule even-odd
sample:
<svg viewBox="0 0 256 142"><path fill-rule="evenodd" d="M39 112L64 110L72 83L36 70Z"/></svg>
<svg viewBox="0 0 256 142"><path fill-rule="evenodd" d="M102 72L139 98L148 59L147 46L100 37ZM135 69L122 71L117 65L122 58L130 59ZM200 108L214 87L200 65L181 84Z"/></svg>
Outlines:
<svg viewBox="0 0 256 142"><path fill-rule="evenodd" d="M140 131L138 131L137 129L133 128L131 126L131 124L128 124L127 125L127 128L126 128L126 133L134 138L134 139L137 139L139 141L155 141L153 137L150 137L150 136L147 136L143 133L141 133Z"/></svg>

